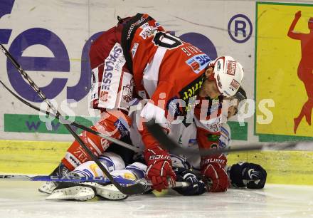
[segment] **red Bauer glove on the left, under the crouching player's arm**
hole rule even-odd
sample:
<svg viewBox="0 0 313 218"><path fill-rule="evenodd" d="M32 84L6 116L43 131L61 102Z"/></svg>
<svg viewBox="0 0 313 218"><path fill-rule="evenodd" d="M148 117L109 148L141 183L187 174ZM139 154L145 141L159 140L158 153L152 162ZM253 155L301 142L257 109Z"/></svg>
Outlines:
<svg viewBox="0 0 313 218"><path fill-rule="evenodd" d="M154 190L161 191L169 187L169 182L175 185L176 175L171 169L171 156L161 147L144 151L147 163L147 177L152 181Z"/></svg>

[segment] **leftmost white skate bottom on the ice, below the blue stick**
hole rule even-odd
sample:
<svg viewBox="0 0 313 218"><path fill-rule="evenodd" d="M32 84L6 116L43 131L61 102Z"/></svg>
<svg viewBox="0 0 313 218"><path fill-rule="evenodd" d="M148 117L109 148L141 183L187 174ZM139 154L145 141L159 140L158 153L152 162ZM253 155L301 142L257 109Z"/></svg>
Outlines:
<svg viewBox="0 0 313 218"><path fill-rule="evenodd" d="M65 189L54 190L47 200L75 199L78 201L87 201L95 197L95 192L90 187L68 187Z"/></svg>

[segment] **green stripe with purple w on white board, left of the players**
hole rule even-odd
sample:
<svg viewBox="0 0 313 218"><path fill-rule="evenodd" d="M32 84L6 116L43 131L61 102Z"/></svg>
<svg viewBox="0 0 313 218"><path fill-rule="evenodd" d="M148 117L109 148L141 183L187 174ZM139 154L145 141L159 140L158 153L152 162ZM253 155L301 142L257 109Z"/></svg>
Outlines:
<svg viewBox="0 0 313 218"><path fill-rule="evenodd" d="M42 117L44 118L44 117ZM68 119L69 117L66 117ZM89 118L88 118L89 119ZM81 125L91 126L92 121L98 118L91 118L87 120L83 117L76 117L75 122ZM26 115L26 114L4 114L4 132L13 133L51 133L51 134L69 134L68 130L54 119L51 122L51 129L48 130L46 123L41 121L39 115ZM80 134L82 130L72 126L76 133Z"/></svg>

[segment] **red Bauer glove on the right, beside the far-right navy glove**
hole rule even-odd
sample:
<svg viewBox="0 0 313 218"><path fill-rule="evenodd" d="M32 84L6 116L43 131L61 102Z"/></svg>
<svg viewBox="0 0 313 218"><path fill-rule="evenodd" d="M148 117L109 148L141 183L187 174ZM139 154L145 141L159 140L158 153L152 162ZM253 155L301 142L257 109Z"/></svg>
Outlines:
<svg viewBox="0 0 313 218"><path fill-rule="evenodd" d="M224 169L226 163L227 159L223 154L201 157L201 173L211 180L208 192L226 192L228 188L228 175Z"/></svg>

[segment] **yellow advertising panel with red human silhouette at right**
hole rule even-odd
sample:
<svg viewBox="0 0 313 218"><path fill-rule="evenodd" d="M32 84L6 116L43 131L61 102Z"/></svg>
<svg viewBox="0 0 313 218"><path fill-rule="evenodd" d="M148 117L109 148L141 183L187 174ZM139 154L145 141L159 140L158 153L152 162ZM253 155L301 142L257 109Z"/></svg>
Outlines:
<svg viewBox="0 0 313 218"><path fill-rule="evenodd" d="M260 140L313 137L313 5L257 4L255 133Z"/></svg>

